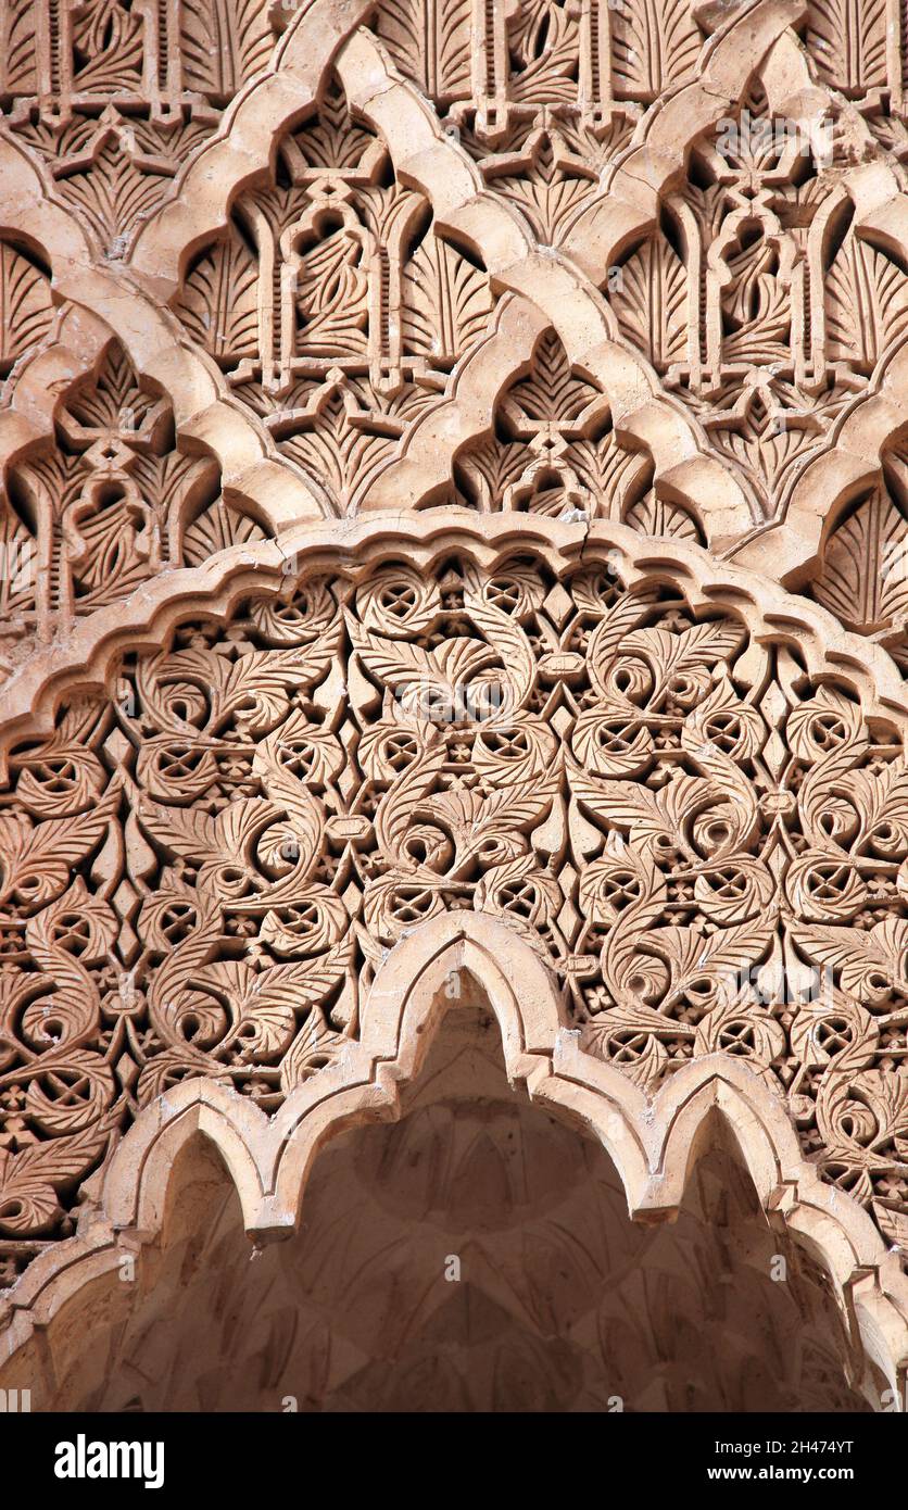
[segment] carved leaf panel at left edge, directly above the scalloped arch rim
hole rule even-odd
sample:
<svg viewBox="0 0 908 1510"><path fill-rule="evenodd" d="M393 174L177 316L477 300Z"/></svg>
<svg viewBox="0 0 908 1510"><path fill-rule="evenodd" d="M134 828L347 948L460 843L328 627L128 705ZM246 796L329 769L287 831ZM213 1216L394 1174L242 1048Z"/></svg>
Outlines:
<svg viewBox="0 0 908 1510"><path fill-rule="evenodd" d="M219 501L216 464L177 451L168 399L139 387L115 340L60 403L53 448L9 468L0 532L8 669L160 571L263 538Z"/></svg>

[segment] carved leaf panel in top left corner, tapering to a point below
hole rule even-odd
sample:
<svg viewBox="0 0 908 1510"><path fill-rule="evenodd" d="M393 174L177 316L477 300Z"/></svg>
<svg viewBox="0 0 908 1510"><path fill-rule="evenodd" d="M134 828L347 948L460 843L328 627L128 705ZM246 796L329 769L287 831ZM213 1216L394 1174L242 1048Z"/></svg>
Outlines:
<svg viewBox="0 0 908 1510"><path fill-rule="evenodd" d="M6 125L109 255L172 193L186 157L267 65L267 0L9 0Z"/></svg>

